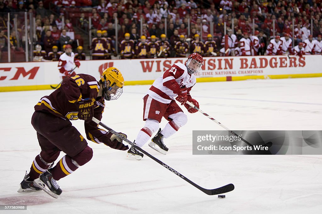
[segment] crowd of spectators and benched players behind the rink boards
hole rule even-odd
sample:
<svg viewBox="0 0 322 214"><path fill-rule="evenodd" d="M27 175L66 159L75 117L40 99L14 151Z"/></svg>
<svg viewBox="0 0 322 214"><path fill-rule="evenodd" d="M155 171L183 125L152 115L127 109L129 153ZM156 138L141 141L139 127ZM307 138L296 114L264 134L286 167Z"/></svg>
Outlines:
<svg viewBox="0 0 322 214"><path fill-rule="evenodd" d="M35 52L45 51L43 60L56 60L66 44L75 52L83 49L75 28L92 34L89 47L84 47L92 59L181 57L192 52L303 55L322 50L321 0L0 0L0 54L7 48L9 12L34 14L34 44L42 47ZM19 35L10 34L13 49L22 44L24 31L23 21L16 25Z"/></svg>

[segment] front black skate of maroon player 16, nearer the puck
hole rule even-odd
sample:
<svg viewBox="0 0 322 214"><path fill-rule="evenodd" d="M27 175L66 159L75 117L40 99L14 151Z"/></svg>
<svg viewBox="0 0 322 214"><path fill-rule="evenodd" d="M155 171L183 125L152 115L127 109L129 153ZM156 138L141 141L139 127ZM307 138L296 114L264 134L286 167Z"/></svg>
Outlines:
<svg viewBox="0 0 322 214"><path fill-rule="evenodd" d="M39 175L39 178L35 179L35 183L43 191L54 198L58 198L58 195L62 194L62 189L59 188L59 185L52 177L49 170L46 170L43 174Z"/></svg>

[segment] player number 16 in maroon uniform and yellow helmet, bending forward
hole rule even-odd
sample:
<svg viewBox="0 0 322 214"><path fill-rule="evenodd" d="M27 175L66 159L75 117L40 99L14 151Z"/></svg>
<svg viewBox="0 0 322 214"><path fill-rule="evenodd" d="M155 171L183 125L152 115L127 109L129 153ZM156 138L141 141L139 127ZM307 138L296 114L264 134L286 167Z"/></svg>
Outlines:
<svg viewBox="0 0 322 214"><path fill-rule="evenodd" d="M122 74L111 67L102 73L99 82L88 74L65 78L60 88L40 99L34 107L31 124L37 131L41 152L33 160L30 172L26 172L19 193L44 190L58 198L62 190L56 181L90 161L93 151L70 120L84 120L88 140L113 149L128 150L120 138L99 129L91 120L92 117L102 119L104 99L117 99L122 94L123 85ZM61 151L66 155L50 168Z"/></svg>

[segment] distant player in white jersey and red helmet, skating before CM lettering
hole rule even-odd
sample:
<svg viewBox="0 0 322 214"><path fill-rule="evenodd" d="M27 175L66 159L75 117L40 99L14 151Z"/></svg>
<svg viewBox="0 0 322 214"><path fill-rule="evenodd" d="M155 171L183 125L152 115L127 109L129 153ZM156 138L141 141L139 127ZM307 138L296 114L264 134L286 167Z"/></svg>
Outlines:
<svg viewBox="0 0 322 214"><path fill-rule="evenodd" d="M74 64L79 68L81 63L78 59L75 58L75 54L71 50L71 45L65 46L65 53L59 57L58 69L62 73L62 78L70 77L76 75L75 72L71 72L74 68Z"/></svg>

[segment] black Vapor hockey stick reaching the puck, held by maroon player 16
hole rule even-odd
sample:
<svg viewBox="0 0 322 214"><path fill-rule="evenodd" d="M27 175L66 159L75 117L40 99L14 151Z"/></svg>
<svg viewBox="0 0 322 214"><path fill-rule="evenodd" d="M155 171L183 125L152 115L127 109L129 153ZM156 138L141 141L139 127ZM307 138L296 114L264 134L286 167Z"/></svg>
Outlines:
<svg viewBox="0 0 322 214"><path fill-rule="evenodd" d="M235 186L234 184L227 184L225 186L216 188L216 189L205 189L201 186L199 186L198 184L195 184L194 182L192 182L191 180L189 180L188 178L186 178L185 176L183 176L182 174L180 174L178 171L176 171L175 169L169 167L168 165L166 165L165 163L163 163L161 160L155 158L154 156L150 155L149 153L147 153L145 150L141 149L140 147L138 147L135 143L129 141L126 137L124 137L123 135L120 135L119 133L115 132L113 129L111 129L110 127L108 127L107 125L103 124L102 122L100 122L98 119L96 118L92 118L92 120L101 125L102 127L104 127L105 129L109 130L109 132L115 134L118 138L122 139L123 141L127 142L128 144L130 144L131 146L134 146L137 150L139 150L140 152L142 152L143 154L145 154L146 156L148 156L149 158L151 158L152 160L156 161L157 163L159 163L160 165L162 165L163 167L167 168L168 170L170 170L171 172L173 172L175 175L178 175L179 177L181 177L182 179L184 179L186 182L188 182L189 184L193 185L194 187L198 188L199 190L201 190L202 192L206 193L207 195L217 195L217 194L222 194L222 193L227 193L230 192L232 190L234 190Z"/></svg>

